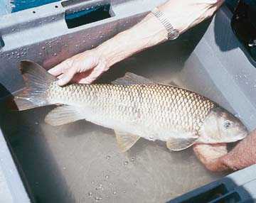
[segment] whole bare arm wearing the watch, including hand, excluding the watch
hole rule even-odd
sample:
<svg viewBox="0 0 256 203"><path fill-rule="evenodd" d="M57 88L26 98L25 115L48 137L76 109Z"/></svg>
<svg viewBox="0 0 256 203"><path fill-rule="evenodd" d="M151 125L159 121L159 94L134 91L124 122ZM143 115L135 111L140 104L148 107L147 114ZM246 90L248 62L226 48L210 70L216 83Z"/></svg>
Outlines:
<svg viewBox="0 0 256 203"><path fill-rule="evenodd" d="M180 33L209 18L224 0L170 0L159 6L172 26ZM102 45L60 63L49 72L60 78L59 84L90 83L112 65L134 53L164 42L167 32L159 20L149 13L133 28L117 34Z"/></svg>

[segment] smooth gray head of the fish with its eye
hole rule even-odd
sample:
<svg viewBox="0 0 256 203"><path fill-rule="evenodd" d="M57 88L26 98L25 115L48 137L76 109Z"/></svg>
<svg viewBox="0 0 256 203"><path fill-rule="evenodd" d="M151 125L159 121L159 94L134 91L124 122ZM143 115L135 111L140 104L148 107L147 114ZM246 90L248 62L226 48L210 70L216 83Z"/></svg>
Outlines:
<svg viewBox="0 0 256 203"><path fill-rule="evenodd" d="M233 114L215 107L206 116L199 134L201 143L232 143L245 138L248 131Z"/></svg>

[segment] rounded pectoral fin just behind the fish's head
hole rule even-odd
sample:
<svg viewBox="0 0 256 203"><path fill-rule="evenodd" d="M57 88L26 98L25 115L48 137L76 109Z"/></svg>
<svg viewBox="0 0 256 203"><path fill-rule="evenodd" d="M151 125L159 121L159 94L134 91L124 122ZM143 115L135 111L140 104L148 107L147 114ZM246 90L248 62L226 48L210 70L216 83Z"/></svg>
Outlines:
<svg viewBox="0 0 256 203"><path fill-rule="evenodd" d="M194 133L189 133L188 136L181 137L181 138L171 137L166 142L166 146L167 148L169 148L169 150L173 150L173 151L185 150L186 148L189 148L190 146L192 146L197 139L198 139L198 135Z"/></svg>

